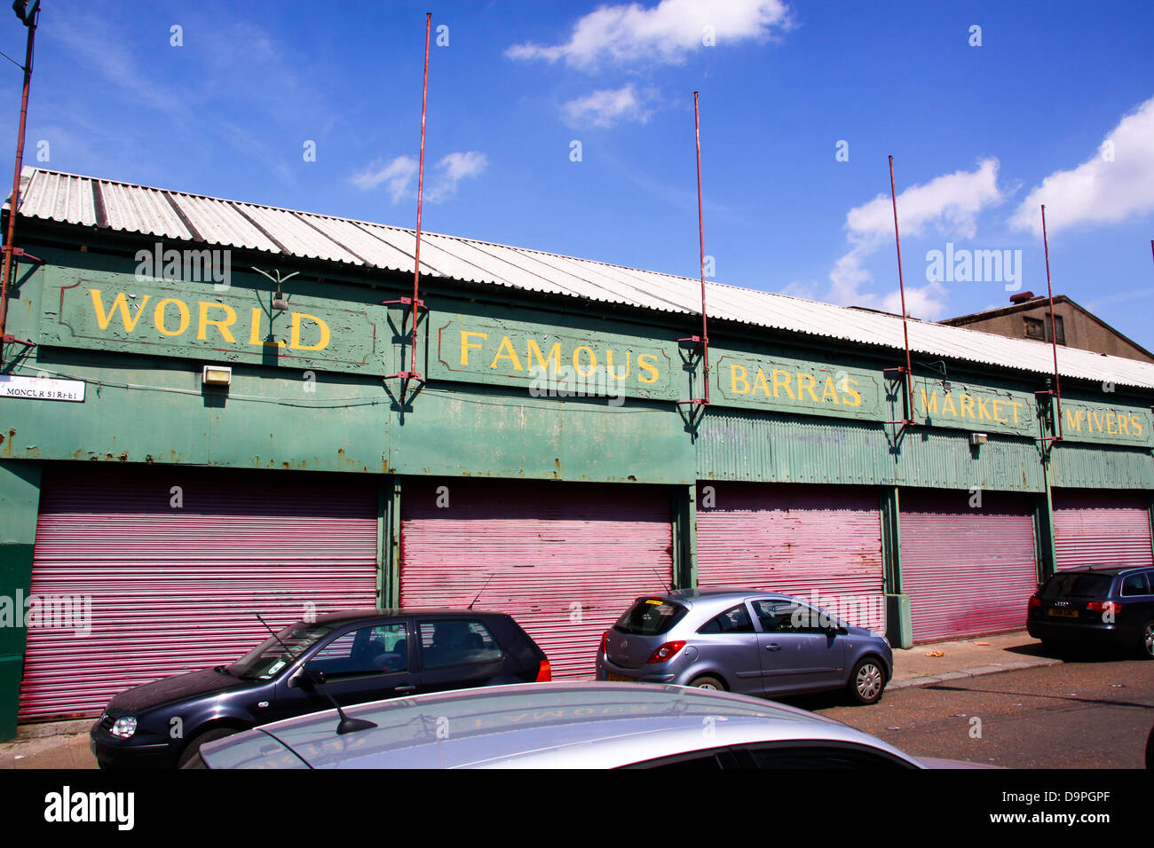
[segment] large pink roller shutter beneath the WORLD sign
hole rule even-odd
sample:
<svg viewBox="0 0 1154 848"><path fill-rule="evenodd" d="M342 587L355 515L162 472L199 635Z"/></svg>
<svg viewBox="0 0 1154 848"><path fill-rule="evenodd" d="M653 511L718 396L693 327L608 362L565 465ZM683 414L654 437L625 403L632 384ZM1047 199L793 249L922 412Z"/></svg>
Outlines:
<svg viewBox="0 0 1154 848"><path fill-rule="evenodd" d="M376 490L335 476L50 467L31 594L90 599L91 632L29 628L20 719L96 715L129 686L232 662L268 637L255 613L277 629L375 606Z"/></svg>

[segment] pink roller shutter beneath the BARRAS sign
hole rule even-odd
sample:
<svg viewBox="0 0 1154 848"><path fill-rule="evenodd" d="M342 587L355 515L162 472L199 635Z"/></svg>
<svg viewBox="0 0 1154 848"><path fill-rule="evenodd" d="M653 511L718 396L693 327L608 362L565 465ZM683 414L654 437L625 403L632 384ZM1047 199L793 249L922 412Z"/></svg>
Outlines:
<svg viewBox="0 0 1154 848"><path fill-rule="evenodd" d="M785 592L885 629L878 494L856 487L707 483L697 498L697 583Z"/></svg>

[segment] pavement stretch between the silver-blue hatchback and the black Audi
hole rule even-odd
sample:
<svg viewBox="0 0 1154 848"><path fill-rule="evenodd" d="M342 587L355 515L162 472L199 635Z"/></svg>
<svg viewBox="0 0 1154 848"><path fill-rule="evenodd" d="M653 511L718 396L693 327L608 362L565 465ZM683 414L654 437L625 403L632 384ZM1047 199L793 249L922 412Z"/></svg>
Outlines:
<svg viewBox="0 0 1154 848"><path fill-rule="evenodd" d="M941 653L941 656L934 654ZM894 648L893 680L889 689L920 686L939 681L976 677L1021 668L1057 666L1062 660L1048 655L1042 644L1025 630L997 636L975 636L958 641Z"/></svg>

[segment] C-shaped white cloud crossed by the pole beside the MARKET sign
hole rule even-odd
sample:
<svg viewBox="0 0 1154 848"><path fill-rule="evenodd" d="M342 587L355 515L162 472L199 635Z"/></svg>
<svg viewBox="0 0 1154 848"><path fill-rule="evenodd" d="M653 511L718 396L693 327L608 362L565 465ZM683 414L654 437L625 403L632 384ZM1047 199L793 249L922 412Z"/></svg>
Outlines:
<svg viewBox="0 0 1154 848"><path fill-rule="evenodd" d="M979 212L1003 200L997 182L998 160L990 158L980 162L973 171L957 171L936 177L924 186L911 186L898 195L898 225L902 237L921 235L932 225L945 238L972 239L977 232ZM850 209L846 215L846 238L850 248L830 272L832 285L827 299L842 306L864 306L900 315L900 291L886 294L862 291L874 280L863 267L864 261L893 240L892 198L878 195ZM906 286L906 310L921 318L941 317L945 312L945 295L941 283Z"/></svg>

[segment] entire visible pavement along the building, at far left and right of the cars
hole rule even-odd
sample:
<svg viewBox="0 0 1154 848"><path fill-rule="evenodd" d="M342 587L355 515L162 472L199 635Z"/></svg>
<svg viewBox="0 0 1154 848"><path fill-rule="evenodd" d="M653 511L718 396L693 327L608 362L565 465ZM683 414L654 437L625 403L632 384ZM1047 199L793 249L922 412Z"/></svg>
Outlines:
<svg viewBox="0 0 1154 848"><path fill-rule="evenodd" d="M941 656L932 655L939 652ZM908 651L894 650L893 680L887 688L920 686L1061 662L1046 655L1041 643L1026 631L977 636L917 645ZM88 750L88 728L92 721L22 726L15 742L0 742L0 768L96 768L96 759Z"/></svg>

